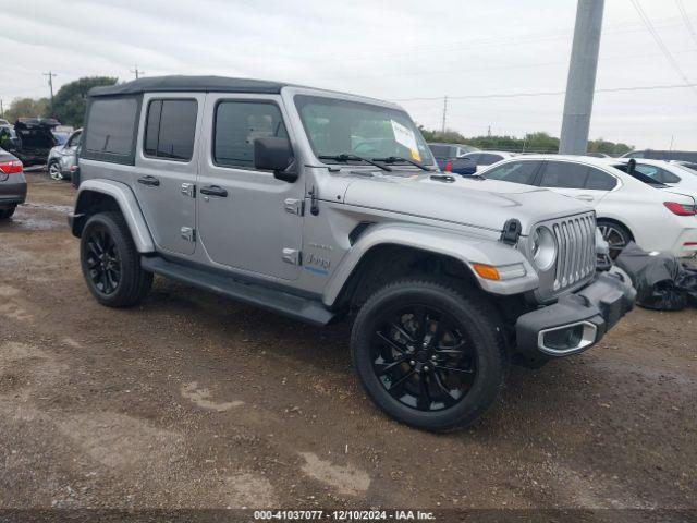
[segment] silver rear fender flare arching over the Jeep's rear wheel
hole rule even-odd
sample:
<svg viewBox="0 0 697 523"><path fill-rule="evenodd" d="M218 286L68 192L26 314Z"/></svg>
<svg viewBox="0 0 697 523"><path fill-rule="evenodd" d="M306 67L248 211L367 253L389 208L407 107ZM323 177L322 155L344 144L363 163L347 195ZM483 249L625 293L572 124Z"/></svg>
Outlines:
<svg viewBox="0 0 697 523"><path fill-rule="evenodd" d="M75 211L69 217L73 234L76 234L75 221L80 217L86 217L86 214L90 210L87 208L89 202L89 194L99 193L110 196L121 209L123 219L129 226L131 236L133 236L133 243L138 253L152 253L155 252L155 242L150 230L143 217L143 211L138 205L133 191L129 185L113 180L86 180L80 184L77 190L77 197L75 200ZM94 212L90 212L94 214ZM78 234L76 234L78 235Z"/></svg>

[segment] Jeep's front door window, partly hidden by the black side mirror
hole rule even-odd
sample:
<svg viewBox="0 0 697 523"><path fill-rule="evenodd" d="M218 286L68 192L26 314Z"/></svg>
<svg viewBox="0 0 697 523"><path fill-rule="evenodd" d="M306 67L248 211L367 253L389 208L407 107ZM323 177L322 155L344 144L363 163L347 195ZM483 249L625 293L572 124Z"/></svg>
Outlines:
<svg viewBox="0 0 697 523"><path fill-rule="evenodd" d="M288 137L278 106L270 101L221 101L216 107L213 161L254 169L254 141Z"/></svg>

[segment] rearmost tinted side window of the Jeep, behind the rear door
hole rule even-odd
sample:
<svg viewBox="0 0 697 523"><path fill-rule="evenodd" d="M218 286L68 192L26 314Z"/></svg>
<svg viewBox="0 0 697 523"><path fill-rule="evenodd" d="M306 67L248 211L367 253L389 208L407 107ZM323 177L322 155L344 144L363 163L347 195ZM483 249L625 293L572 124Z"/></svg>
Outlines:
<svg viewBox="0 0 697 523"><path fill-rule="evenodd" d="M138 109L135 97L94 99L87 117L83 157L133 163Z"/></svg>

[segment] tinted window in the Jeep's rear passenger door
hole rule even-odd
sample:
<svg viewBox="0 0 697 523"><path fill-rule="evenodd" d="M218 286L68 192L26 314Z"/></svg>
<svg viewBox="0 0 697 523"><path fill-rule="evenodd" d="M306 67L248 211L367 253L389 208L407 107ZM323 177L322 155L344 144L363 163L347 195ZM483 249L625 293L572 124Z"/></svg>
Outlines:
<svg viewBox="0 0 697 523"><path fill-rule="evenodd" d="M196 100L151 100L145 122L146 156L188 161L196 136Z"/></svg>

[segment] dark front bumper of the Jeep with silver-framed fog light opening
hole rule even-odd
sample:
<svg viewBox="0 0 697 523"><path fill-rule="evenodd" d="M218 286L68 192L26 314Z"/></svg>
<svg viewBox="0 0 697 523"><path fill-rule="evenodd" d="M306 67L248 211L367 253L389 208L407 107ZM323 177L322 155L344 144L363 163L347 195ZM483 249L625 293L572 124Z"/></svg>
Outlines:
<svg viewBox="0 0 697 523"><path fill-rule="evenodd" d="M560 357L596 344L634 307L636 291L617 267L553 304L522 315L515 324L517 349L534 357Z"/></svg>

